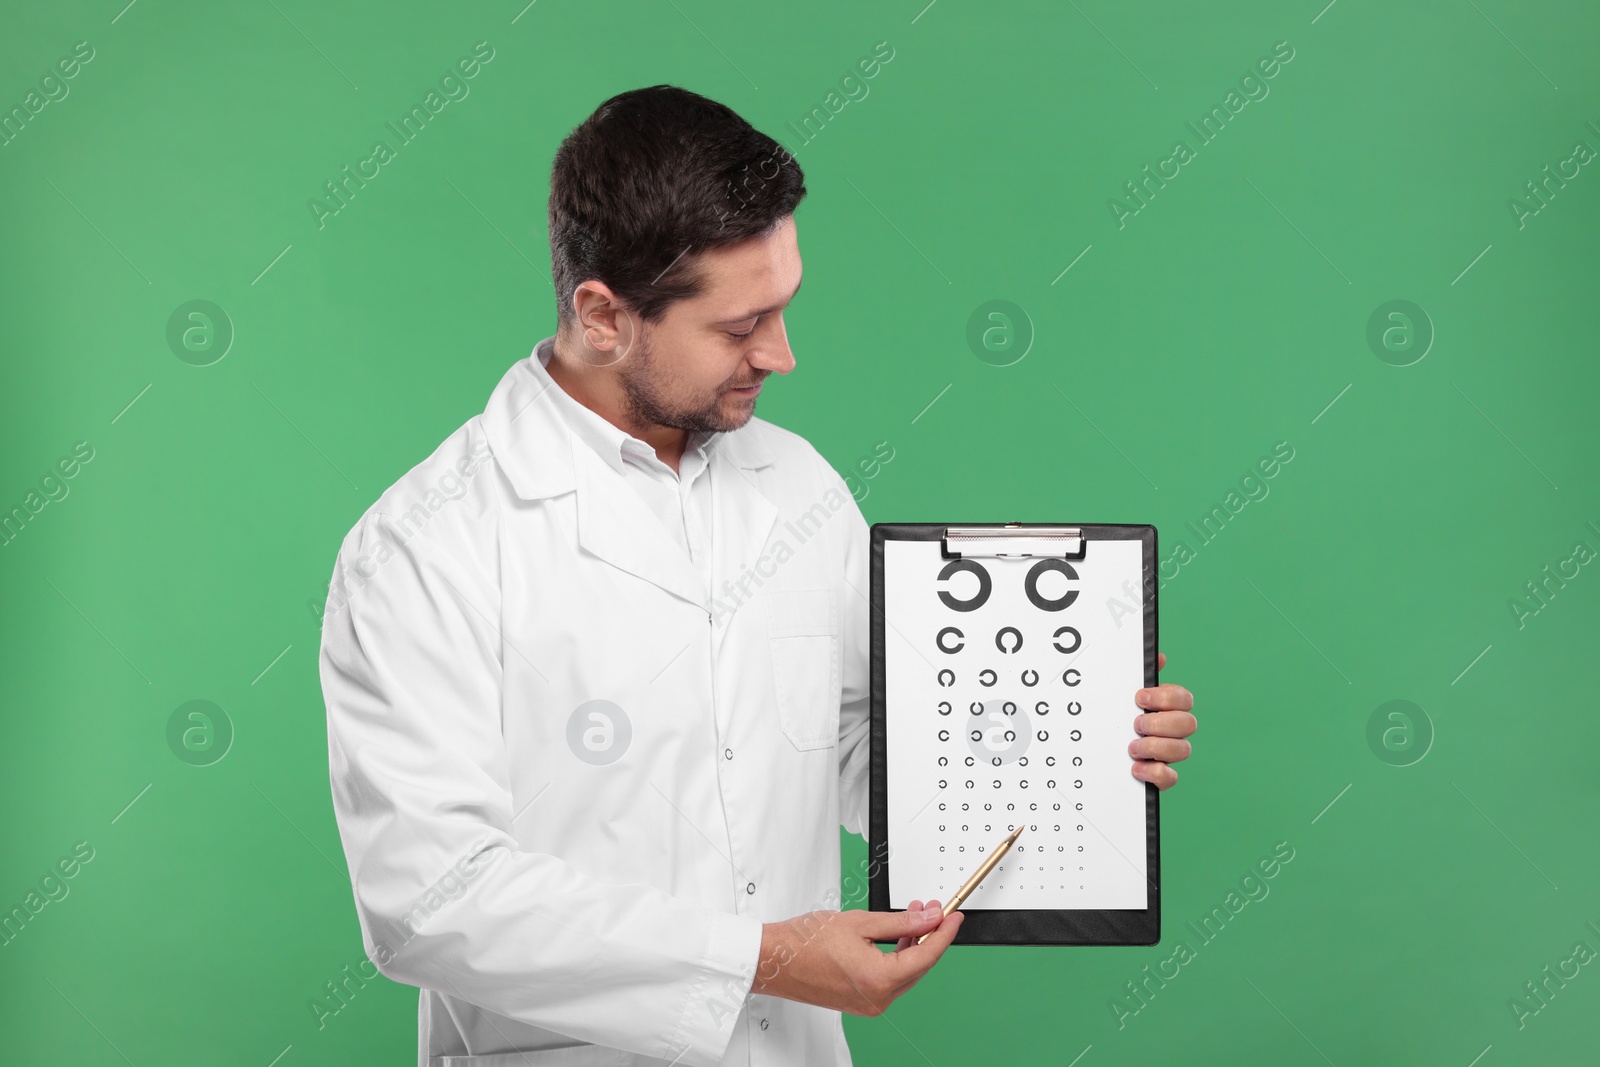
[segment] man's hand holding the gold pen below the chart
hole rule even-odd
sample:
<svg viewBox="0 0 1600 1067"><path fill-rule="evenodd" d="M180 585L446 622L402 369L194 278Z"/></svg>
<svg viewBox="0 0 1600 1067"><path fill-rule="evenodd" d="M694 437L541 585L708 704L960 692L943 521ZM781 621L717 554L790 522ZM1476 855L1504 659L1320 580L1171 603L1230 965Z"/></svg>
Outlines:
<svg viewBox="0 0 1600 1067"><path fill-rule="evenodd" d="M752 993L798 1000L853 1016L878 1016L939 961L955 941L962 913L941 920L938 901L904 912L808 912L762 926L762 960ZM917 944L917 937L928 939ZM874 944L898 937L893 952Z"/></svg>

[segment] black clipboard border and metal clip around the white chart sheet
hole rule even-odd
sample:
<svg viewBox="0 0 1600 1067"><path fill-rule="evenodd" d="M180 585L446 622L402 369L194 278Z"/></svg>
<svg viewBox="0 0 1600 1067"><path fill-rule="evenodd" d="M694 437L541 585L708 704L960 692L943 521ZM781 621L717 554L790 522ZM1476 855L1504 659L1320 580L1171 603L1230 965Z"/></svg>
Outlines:
<svg viewBox="0 0 1600 1067"><path fill-rule="evenodd" d="M872 526L872 781L869 816L869 891L867 905L874 912L904 910L890 907L893 841L888 811L888 693L885 648L888 619L885 614L885 558L890 541L941 541L946 560L966 555L1045 557L1064 560L1093 557L1098 541L1141 542L1141 614L1144 640L1142 686L1157 685L1157 531L1141 523L874 523ZM979 547L982 545L982 547ZM1130 688L1130 702L1133 688ZM1131 715L1130 710L1130 741ZM1082 910L990 910L960 907L958 945L1154 945L1162 936L1162 849L1160 790L1144 782L1146 808L1146 878L1144 909ZM990 875L994 877L994 875ZM920 894L918 894L920 896Z"/></svg>

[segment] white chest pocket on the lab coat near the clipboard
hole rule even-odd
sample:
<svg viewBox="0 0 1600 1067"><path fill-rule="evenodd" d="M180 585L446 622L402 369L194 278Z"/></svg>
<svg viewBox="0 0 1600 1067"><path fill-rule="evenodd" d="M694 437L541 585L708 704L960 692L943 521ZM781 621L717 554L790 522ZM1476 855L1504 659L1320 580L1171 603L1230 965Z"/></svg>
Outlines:
<svg viewBox="0 0 1600 1067"><path fill-rule="evenodd" d="M773 689L795 749L838 744L838 617L829 589L774 589L766 597Z"/></svg>

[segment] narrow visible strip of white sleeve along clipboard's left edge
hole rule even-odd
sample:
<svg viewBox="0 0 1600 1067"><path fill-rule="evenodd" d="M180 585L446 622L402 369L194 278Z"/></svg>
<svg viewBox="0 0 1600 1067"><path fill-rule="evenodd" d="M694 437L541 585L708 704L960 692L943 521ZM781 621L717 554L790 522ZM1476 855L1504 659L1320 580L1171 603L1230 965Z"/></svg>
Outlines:
<svg viewBox="0 0 1600 1067"><path fill-rule="evenodd" d="M842 688L838 705L838 816L851 833L867 833L872 779L872 534L850 490L845 512Z"/></svg>

